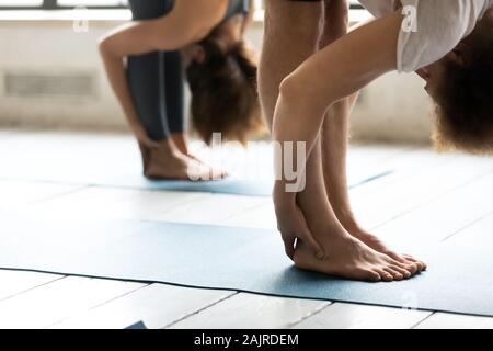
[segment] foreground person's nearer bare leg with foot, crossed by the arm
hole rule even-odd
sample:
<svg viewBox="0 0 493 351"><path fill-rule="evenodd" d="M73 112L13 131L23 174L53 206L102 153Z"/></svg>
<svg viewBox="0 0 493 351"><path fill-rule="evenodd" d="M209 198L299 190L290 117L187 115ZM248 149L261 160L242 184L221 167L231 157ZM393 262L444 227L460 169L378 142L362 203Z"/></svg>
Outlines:
<svg viewBox="0 0 493 351"><path fill-rule="evenodd" d="M271 126L280 81L317 49L320 14L320 3L266 2L259 88L263 112ZM411 275L409 265L369 248L351 236L337 220L325 195L320 143L308 160L307 188L298 194L297 201L328 257L320 261L299 242L295 253L295 263L299 268L371 281Z"/></svg>

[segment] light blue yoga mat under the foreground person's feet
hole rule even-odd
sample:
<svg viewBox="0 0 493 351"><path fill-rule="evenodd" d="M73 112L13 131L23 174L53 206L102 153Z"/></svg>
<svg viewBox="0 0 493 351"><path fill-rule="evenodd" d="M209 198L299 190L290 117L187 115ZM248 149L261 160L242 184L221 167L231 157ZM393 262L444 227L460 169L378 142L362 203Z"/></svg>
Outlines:
<svg viewBox="0 0 493 351"><path fill-rule="evenodd" d="M414 253L426 260L427 272L402 282L366 283L296 269L272 230L13 215L1 219L4 269L493 316L490 236L468 246L428 247L424 241L426 249Z"/></svg>

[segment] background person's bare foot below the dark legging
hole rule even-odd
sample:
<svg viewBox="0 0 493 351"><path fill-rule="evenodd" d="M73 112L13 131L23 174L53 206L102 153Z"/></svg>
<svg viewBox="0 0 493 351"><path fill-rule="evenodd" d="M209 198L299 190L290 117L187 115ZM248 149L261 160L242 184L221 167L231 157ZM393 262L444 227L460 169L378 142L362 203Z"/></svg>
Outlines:
<svg viewBox="0 0 493 351"><path fill-rule="evenodd" d="M206 166L177 150L149 151L145 176L151 179L210 181L225 178L225 171Z"/></svg>

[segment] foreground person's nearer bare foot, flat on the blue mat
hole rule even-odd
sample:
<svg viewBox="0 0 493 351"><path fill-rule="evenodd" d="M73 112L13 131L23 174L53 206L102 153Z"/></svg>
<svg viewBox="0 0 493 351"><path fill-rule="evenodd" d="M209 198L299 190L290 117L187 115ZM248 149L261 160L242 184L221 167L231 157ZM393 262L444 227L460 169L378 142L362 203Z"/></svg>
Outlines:
<svg viewBox="0 0 493 351"><path fill-rule="evenodd" d="M413 275L410 264L371 249L348 233L325 236L323 240L325 260L318 260L303 242L299 242L295 264L303 270L372 282L400 281Z"/></svg>

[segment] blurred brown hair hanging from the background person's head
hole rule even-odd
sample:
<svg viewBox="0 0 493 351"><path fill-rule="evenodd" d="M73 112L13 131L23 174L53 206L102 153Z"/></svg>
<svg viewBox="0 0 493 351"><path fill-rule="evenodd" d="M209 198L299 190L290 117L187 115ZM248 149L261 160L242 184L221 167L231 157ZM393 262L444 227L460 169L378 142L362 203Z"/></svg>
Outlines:
<svg viewBox="0 0 493 351"><path fill-rule="evenodd" d="M256 90L255 56L244 42L228 43L214 34L199 45L205 59L193 61L186 70L193 127L207 144L213 133L221 133L225 140L245 144L250 134L265 129Z"/></svg>

